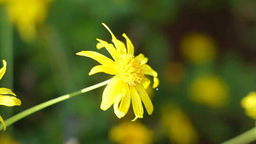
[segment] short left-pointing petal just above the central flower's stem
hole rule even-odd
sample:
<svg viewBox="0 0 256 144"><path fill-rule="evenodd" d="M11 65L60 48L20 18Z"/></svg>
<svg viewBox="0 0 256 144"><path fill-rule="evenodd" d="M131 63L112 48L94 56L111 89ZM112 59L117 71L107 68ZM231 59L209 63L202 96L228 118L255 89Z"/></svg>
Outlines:
<svg viewBox="0 0 256 144"><path fill-rule="evenodd" d="M91 69L89 75L98 73L98 72L105 72L108 74L116 74L116 70L114 67L106 66L106 65L96 65Z"/></svg>

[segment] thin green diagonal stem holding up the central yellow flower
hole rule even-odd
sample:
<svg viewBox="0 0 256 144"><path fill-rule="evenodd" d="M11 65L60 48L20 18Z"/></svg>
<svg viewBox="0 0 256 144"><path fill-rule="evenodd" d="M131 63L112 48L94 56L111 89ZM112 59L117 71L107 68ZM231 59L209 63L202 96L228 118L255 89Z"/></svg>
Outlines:
<svg viewBox="0 0 256 144"><path fill-rule="evenodd" d="M93 86L90 86L90 87L87 87L87 88L84 88L82 90L78 90L78 91L75 91L73 93L70 93L70 94L66 94L66 95L63 95L63 96L60 96L58 98L55 98L55 99L51 99L51 100L48 100L46 102L43 102L37 106L34 106L32 108L28 108L27 110L24 110L20 113L18 113L17 115L13 116L13 117L10 117L8 118L5 123L6 123L6 126L9 126L15 122L17 122L18 120L24 118L24 117L27 117L43 108L46 108L46 107L49 107L51 105L54 105L55 103L58 103L58 102L61 102L65 99L69 99L69 98L72 98L76 95L79 95L79 94L82 94L82 93L85 93L87 91L90 91L90 90L94 90L94 89L97 89L101 86L104 86L106 84L108 84L110 82L110 80L107 80L107 81L103 81L101 83L98 83L98 84L95 84ZM0 125L0 131L3 129L3 125Z"/></svg>

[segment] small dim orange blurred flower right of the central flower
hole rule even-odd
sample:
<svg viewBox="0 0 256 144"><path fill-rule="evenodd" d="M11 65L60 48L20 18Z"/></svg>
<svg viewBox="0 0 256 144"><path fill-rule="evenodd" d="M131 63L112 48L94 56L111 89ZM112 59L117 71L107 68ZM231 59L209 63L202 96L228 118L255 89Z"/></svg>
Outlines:
<svg viewBox="0 0 256 144"><path fill-rule="evenodd" d="M165 80L170 84L178 84L183 81L185 70L182 63L172 62L168 63L164 68Z"/></svg>

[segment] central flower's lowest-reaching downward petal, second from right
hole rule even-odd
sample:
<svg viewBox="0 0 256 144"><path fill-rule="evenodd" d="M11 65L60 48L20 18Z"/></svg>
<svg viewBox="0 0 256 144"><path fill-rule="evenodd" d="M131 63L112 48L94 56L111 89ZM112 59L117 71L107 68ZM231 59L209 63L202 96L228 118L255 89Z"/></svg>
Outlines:
<svg viewBox="0 0 256 144"><path fill-rule="evenodd" d="M130 95L132 101L132 108L136 117L143 118L143 107L141 99L134 86L130 86Z"/></svg>

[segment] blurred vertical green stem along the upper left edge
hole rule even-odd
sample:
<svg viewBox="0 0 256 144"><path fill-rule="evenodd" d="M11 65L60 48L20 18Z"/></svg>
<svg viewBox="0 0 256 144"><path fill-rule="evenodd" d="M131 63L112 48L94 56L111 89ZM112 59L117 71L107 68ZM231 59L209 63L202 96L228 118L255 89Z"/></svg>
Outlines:
<svg viewBox="0 0 256 144"><path fill-rule="evenodd" d="M0 59L8 63L4 86L13 89L13 31L5 9L0 9Z"/></svg>

